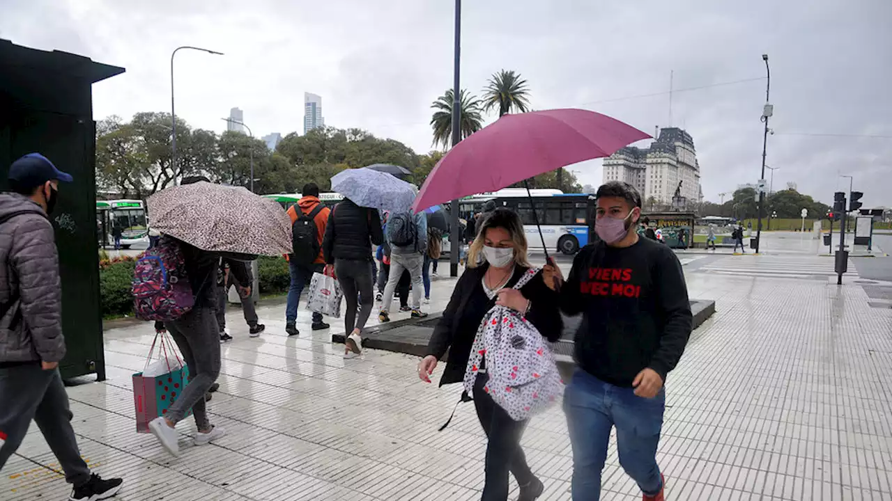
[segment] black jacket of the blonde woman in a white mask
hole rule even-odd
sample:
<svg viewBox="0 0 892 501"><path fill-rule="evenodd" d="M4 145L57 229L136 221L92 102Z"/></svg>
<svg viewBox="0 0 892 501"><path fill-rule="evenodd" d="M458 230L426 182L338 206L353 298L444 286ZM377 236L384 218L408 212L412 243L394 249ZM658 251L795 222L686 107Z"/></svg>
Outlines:
<svg viewBox="0 0 892 501"><path fill-rule="evenodd" d="M486 312L495 306L495 300L486 301L487 298L483 292L483 275L488 267L488 264L483 264L481 267L468 268L458 278L449 305L443 311L440 323L434 328L434 334L428 341L427 355L434 355L440 359L446 354L447 349L449 350L449 361L446 363L446 370L443 371L442 378L440 378L441 386L464 380L465 368L468 358L471 357L471 347L474 345L477 327L483 322ZM506 287L513 287L528 269L516 267L514 275ZM520 292L524 294L524 298L531 302L530 312L526 319L549 341L558 341L563 329L558 292L549 289L541 279L541 275L534 277L524 285ZM485 301L483 304L468 304L470 300L480 300L481 294Z"/></svg>

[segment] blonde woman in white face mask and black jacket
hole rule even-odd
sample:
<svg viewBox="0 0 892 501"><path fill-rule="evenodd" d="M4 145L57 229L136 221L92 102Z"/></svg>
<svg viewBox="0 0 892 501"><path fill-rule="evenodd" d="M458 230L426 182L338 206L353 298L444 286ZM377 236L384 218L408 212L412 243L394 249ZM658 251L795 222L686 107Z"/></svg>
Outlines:
<svg viewBox="0 0 892 501"><path fill-rule="evenodd" d="M476 265L483 255L483 264ZM427 356L418 364L418 377L430 382L437 361L447 351L449 360L440 379L440 386L462 382L465 378L471 348L483 317L495 305L512 308L525 314L536 330L549 341L558 341L561 317L558 293L538 277L520 290L514 285L530 269L526 259L527 243L524 226L515 212L496 209L491 218L483 219L480 232L469 251L468 268L459 278L446 310L427 345ZM487 357L489 354L487 354ZM544 486L526 464L520 439L528 420L515 421L483 390L489 381L486 357L478 368L473 391L474 407L483 431L489 439L484 460L483 501L508 499L508 472L520 485L520 501L540 497ZM463 398L465 399L465 395Z"/></svg>

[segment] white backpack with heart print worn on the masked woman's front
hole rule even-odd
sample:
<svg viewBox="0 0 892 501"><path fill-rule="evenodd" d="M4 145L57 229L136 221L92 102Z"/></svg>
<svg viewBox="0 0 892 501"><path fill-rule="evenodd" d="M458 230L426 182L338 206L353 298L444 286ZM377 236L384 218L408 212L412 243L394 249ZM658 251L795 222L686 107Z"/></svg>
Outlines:
<svg viewBox="0 0 892 501"><path fill-rule="evenodd" d="M538 269L531 268L514 288L520 290L538 273ZM465 370L468 395L473 394L484 355L490 379L483 390L515 421L545 410L564 391L548 341L511 308L492 308L477 329Z"/></svg>

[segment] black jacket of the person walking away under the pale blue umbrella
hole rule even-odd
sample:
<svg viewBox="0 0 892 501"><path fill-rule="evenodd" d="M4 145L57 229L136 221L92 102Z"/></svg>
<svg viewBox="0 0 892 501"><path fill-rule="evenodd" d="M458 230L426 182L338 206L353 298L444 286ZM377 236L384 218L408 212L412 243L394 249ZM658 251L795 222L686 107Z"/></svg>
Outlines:
<svg viewBox="0 0 892 501"><path fill-rule="evenodd" d="M382 242L384 232L378 211L345 200L328 216L322 252L329 265L335 264L336 259L371 261L372 245L378 246Z"/></svg>

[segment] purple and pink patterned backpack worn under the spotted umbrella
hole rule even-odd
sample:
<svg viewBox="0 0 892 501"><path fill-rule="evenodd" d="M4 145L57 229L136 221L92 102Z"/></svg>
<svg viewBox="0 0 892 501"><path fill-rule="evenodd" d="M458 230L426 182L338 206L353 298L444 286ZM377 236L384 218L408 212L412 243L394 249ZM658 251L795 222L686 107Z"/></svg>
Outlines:
<svg viewBox="0 0 892 501"><path fill-rule="evenodd" d="M179 242L162 237L136 259L132 291L133 309L142 320L176 320L192 309L195 298Z"/></svg>

